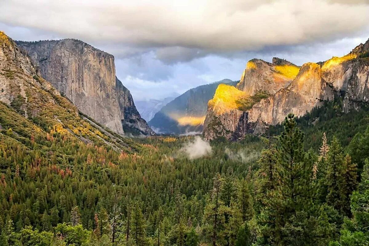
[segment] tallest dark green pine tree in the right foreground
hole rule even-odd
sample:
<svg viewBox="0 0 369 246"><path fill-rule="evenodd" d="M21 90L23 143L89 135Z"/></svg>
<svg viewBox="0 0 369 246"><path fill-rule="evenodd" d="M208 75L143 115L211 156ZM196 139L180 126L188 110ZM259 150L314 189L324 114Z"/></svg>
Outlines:
<svg viewBox="0 0 369 246"><path fill-rule="evenodd" d="M304 134L296 127L294 116L289 114L276 146L277 183L268 193L265 201L268 206L259 218L264 228L265 244L311 245L314 242L312 228L303 226L315 210L314 187L310 182L313 157L304 152L303 138ZM294 233L296 230L300 233Z"/></svg>

